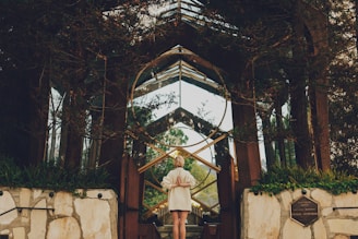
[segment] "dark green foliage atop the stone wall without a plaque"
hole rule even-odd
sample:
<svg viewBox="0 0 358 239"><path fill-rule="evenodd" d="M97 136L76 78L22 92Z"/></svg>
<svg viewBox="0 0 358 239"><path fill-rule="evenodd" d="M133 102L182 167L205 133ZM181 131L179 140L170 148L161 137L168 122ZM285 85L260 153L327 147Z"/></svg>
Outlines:
<svg viewBox="0 0 358 239"><path fill-rule="evenodd" d="M77 171L44 163L19 167L12 158L0 157L0 183L12 188L40 188L73 192L75 189L109 188L109 176L103 168Z"/></svg>

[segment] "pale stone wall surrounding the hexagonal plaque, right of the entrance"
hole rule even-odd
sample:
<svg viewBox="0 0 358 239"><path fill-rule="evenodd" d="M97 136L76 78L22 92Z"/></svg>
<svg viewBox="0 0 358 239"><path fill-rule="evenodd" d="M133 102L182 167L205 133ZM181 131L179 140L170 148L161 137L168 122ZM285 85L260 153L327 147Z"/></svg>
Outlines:
<svg viewBox="0 0 358 239"><path fill-rule="evenodd" d="M318 217L303 226L291 205L306 196L318 204ZM284 191L270 196L246 190L241 201L241 239L349 239L358 236L358 194L332 195L321 189Z"/></svg>

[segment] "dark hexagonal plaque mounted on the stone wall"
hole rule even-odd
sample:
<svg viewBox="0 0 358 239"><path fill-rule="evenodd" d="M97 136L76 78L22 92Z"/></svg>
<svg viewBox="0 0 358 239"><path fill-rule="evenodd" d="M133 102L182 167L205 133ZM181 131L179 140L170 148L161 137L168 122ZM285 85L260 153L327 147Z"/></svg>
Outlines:
<svg viewBox="0 0 358 239"><path fill-rule="evenodd" d="M290 216L306 227L319 218L319 205L313 200L302 196L291 204Z"/></svg>

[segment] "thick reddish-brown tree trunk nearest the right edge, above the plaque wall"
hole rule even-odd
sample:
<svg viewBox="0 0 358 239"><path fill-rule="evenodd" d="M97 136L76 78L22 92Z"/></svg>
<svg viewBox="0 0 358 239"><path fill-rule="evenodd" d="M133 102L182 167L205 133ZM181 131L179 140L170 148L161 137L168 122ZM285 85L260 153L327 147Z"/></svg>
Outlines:
<svg viewBox="0 0 358 239"><path fill-rule="evenodd" d="M310 91L311 124L313 129L314 156L318 168L331 168L330 152L330 121L329 121L329 80L327 72L327 14L312 8L303 1L299 4L305 24L310 34L310 45L313 46L309 56L310 62Z"/></svg>

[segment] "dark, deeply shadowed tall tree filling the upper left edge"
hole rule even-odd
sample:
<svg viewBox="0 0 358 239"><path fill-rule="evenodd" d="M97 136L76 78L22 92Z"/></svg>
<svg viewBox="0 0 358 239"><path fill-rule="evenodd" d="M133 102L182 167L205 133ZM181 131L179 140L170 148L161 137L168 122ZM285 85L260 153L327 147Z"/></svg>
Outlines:
<svg viewBox="0 0 358 239"><path fill-rule="evenodd" d="M1 1L0 151L19 165L44 159L48 115L46 4Z"/></svg>

